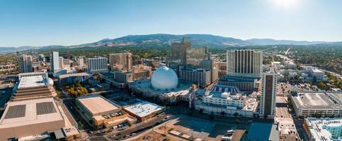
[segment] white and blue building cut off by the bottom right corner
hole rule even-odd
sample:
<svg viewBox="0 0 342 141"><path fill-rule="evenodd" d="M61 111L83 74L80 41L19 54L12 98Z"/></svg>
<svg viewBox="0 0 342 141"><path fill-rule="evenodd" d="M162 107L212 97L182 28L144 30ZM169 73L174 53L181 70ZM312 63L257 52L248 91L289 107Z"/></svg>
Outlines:
<svg viewBox="0 0 342 141"><path fill-rule="evenodd" d="M306 118L304 129L309 140L342 140L342 118Z"/></svg>

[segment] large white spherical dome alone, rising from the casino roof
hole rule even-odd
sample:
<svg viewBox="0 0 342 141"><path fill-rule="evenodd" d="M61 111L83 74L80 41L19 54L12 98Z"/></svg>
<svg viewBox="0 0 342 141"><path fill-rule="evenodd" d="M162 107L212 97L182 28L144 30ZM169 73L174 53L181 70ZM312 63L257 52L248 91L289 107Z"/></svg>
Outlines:
<svg viewBox="0 0 342 141"><path fill-rule="evenodd" d="M158 90L175 89L178 85L178 76L171 68L163 66L154 71L151 84L154 89Z"/></svg>

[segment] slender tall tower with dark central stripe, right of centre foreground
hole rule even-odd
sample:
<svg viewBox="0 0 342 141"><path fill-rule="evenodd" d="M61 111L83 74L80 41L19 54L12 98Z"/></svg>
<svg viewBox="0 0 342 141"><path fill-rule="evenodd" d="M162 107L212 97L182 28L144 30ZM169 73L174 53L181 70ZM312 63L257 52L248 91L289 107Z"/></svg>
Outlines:
<svg viewBox="0 0 342 141"><path fill-rule="evenodd" d="M270 71L261 75L261 104L259 116L273 118L275 114L275 96L277 92L277 73L274 67L270 67Z"/></svg>

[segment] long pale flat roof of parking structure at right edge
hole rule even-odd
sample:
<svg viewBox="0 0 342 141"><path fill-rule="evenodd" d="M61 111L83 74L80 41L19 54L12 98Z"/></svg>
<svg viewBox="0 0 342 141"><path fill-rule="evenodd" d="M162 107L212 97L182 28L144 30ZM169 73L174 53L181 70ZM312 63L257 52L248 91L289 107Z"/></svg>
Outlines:
<svg viewBox="0 0 342 141"><path fill-rule="evenodd" d="M298 92L292 99L304 109L342 109L342 92Z"/></svg>

